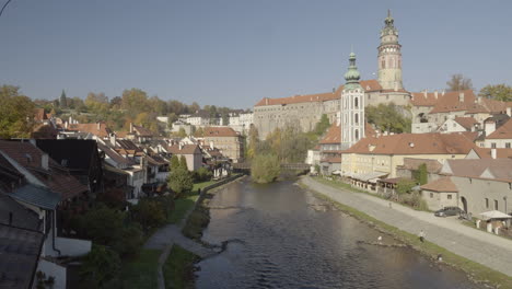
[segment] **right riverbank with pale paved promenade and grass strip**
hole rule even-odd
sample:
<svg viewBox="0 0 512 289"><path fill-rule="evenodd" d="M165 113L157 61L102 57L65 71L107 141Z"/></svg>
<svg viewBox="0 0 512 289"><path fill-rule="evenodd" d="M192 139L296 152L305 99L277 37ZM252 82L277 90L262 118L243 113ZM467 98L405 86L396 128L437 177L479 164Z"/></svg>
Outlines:
<svg viewBox="0 0 512 289"><path fill-rule="evenodd" d="M300 183L321 198L334 203L340 210L392 234L433 261L442 254L443 263L464 270L475 282L494 288L512 288L512 242L508 240L485 233L476 234L480 232L463 226L454 228L454 223L445 219L400 205L394 204L389 208L388 201L335 188L311 177L302 177ZM418 239L420 230L427 233L426 242Z"/></svg>

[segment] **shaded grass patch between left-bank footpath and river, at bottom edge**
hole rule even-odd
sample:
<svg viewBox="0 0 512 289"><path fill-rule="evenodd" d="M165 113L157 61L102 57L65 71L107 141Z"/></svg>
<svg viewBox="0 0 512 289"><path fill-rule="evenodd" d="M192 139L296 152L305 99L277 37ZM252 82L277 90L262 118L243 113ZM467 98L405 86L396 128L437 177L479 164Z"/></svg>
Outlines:
<svg viewBox="0 0 512 289"><path fill-rule="evenodd" d="M199 256L173 245L163 266L165 288L194 288L194 264L199 261Z"/></svg>

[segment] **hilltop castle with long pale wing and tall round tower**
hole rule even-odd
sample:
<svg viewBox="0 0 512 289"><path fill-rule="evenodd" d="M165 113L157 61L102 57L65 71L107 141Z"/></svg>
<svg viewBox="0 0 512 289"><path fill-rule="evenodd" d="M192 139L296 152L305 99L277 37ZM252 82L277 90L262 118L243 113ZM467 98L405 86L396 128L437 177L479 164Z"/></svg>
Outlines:
<svg viewBox="0 0 512 289"><path fill-rule="evenodd" d="M359 124L363 126L364 106L379 105L381 103L395 103L397 105L408 105L410 102L410 93L405 91L402 82L402 45L398 43L398 30L394 26L394 19L388 12L384 21L384 27L381 31L381 44L377 47L377 80L362 80L358 79L347 80L347 84L338 86L333 92L294 95L281 99L260 100L254 106L254 125L258 129L259 137L265 139L268 134L276 128L283 128L287 125L298 125L303 131L312 130L316 123L321 119L323 114L326 114L330 123L336 122L340 115L341 100L350 96L353 101L358 100L358 109L362 112L358 114ZM352 55L350 65L352 65ZM353 65L356 56L353 56ZM349 72L351 73L349 68ZM357 71L357 70L356 70ZM353 96L356 85L358 82L361 97ZM347 90L345 86L349 86ZM358 91L356 90L356 91ZM346 96L344 96L344 93ZM352 103L354 104L354 103ZM353 113L353 112L352 112ZM350 122L354 118L350 118ZM358 136L356 136L356 131ZM344 134L345 135L345 134ZM346 135L350 143L354 139L363 136L362 130L354 130L350 135Z"/></svg>

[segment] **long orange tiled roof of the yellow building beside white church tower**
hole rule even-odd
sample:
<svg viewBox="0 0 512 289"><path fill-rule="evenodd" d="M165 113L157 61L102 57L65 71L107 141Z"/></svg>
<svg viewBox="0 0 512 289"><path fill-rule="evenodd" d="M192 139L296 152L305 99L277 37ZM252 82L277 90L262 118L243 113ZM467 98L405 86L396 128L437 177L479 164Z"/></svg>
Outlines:
<svg viewBox="0 0 512 289"><path fill-rule="evenodd" d="M475 144L463 134L399 134L363 138L347 153L467 154Z"/></svg>

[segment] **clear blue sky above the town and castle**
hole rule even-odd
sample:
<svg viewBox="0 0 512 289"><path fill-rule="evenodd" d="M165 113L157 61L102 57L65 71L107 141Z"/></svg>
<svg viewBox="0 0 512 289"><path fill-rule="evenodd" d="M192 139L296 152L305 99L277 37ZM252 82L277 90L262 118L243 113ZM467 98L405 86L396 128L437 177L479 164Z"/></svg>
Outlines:
<svg viewBox="0 0 512 289"><path fill-rule="evenodd" d="M441 90L453 73L476 89L512 84L505 0L12 0L0 18L0 84L33 99L139 88L246 108L342 84L351 45L362 78L375 78L387 9L407 90Z"/></svg>

